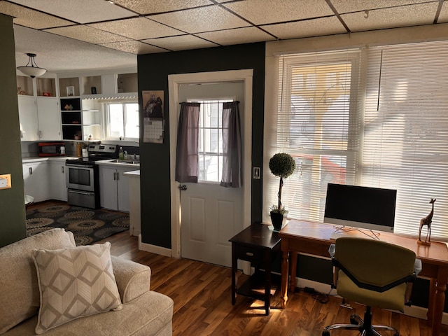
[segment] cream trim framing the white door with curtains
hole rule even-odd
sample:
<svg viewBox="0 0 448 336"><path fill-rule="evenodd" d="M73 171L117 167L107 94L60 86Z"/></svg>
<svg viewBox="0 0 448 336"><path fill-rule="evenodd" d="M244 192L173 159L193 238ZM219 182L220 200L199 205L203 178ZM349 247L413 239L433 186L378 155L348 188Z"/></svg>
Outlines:
<svg viewBox="0 0 448 336"><path fill-rule="evenodd" d="M169 92L169 174L171 180L171 244L172 257L181 257L181 191L175 181L179 85L188 83L216 83L244 81L244 141L243 141L243 226L251 225L252 182L252 82L253 69L180 73L168 76Z"/></svg>

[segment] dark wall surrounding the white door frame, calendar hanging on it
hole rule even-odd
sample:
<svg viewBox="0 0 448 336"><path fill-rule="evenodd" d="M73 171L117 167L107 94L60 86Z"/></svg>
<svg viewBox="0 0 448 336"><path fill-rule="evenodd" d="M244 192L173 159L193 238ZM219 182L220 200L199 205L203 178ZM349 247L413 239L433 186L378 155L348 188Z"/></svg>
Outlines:
<svg viewBox="0 0 448 336"><path fill-rule="evenodd" d="M137 63L139 101L142 100L142 90L164 90L165 96L163 144L140 142L141 241L171 248L168 75L253 69L252 166L262 167L265 43L139 55ZM142 113L140 113L140 125L143 125ZM251 193L252 222L259 222L262 216L261 180L252 180Z"/></svg>

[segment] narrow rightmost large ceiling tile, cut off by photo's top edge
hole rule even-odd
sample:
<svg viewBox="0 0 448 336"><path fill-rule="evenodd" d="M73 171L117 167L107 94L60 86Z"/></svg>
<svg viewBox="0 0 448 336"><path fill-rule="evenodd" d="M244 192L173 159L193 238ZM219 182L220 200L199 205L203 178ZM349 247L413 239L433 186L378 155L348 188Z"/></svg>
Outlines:
<svg viewBox="0 0 448 336"><path fill-rule="evenodd" d="M437 0L331 0L333 6L335 6L337 13L353 13L364 10L379 9L379 8L389 8L389 7L399 7L405 5L414 5L416 3L423 2L436 2Z"/></svg>

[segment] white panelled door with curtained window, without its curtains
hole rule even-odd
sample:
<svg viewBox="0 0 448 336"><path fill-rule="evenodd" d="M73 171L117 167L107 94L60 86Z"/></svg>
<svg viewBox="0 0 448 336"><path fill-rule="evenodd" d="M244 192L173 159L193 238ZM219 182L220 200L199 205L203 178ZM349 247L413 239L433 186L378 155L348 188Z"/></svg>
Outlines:
<svg viewBox="0 0 448 336"><path fill-rule="evenodd" d="M224 99L239 101L241 122L244 120L244 83L213 83L207 85L181 85L179 99ZM202 106L201 106L202 107ZM244 129L244 127L241 127ZM242 130L241 130L242 132ZM207 133L207 132L204 132ZM244 137L241 134L241 138ZM207 134L200 141L207 142ZM200 145L201 146L201 145ZM200 158L200 165L202 160ZM208 167L216 167L216 157L209 157ZM205 165L207 167L207 164ZM207 169L207 168L206 168ZM209 169L210 170L210 169ZM213 171L213 169L211 169ZM229 239L243 229L243 188L224 188L216 181L204 181L200 175L199 183L183 183L186 190L181 191L181 256L230 267L232 246ZM213 178L212 178L213 179Z"/></svg>

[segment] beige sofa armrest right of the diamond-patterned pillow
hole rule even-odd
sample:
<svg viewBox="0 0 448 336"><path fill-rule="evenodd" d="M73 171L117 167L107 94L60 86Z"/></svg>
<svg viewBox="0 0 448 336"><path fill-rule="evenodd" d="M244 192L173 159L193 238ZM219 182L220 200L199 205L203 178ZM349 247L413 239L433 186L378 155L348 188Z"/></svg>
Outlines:
<svg viewBox="0 0 448 336"><path fill-rule="evenodd" d="M148 292L151 282L151 268L113 255L111 260L118 292L123 303L129 303Z"/></svg>

